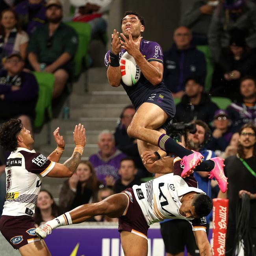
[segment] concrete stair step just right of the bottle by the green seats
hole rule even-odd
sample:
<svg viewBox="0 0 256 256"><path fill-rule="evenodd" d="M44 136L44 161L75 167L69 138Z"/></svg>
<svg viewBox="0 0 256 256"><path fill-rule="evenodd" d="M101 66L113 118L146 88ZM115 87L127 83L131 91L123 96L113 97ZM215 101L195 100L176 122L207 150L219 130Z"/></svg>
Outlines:
<svg viewBox="0 0 256 256"><path fill-rule="evenodd" d="M103 102L102 102L103 103ZM80 117L116 117L118 118L126 104L83 104L80 108L70 108L70 118Z"/></svg>

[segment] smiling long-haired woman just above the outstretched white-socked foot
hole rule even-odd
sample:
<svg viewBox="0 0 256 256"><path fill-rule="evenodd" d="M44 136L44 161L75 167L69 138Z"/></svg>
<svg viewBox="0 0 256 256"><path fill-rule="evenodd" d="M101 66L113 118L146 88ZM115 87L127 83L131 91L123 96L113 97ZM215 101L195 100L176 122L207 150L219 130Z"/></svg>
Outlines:
<svg viewBox="0 0 256 256"><path fill-rule="evenodd" d="M36 226L39 226L64 212L65 211L61 210L56 202L54 202L54 198L49 191L42 189L39 192L37 197L37 205L35 207Z"/></svg>

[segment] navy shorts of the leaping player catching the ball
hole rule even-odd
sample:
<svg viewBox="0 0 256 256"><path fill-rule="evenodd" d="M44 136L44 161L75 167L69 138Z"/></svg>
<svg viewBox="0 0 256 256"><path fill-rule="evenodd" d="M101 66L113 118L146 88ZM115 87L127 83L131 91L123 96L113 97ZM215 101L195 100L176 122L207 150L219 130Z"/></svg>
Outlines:
<svg viewBox="0 0 256 256"><path fill-rule="evenodd" d="M176 113L176 107L171 91L165 88L156 88L150 95L145 98L144 102L149 102L158 105L161 109L173 118Z"/></svg>

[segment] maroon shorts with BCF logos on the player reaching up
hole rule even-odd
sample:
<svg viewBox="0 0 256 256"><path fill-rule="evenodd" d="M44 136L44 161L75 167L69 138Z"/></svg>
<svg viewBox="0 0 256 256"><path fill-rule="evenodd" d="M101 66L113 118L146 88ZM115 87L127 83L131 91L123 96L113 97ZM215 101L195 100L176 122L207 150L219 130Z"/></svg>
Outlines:
<svg viewBox="0 0 256 256"><path fill-rule="evenodd" d="M40 240L35 235L35 219L27 215L2 215L0 218L0 231L16 250L23 245Z"/></svg>

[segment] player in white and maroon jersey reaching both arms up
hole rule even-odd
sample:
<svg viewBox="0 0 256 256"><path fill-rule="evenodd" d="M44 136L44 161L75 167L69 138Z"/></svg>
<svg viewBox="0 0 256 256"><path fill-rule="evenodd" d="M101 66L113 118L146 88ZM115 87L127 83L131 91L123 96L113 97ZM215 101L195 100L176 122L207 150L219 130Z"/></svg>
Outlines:
<svg viewBox="0 0 256 256"><path fill-rule="evenodd" d="M48 156L33 150L33 137L20 119L11 119L0 127L0 144L11 154L6 162L6 202L0 218L0 231L23 256L49 256L45 242L35 235L33 213L45 176L71 177L78 166L86 143L85 129L74 129L76 147L65 163L58 163L65 148L59 127L54 131L57 148Z"/></svg>

